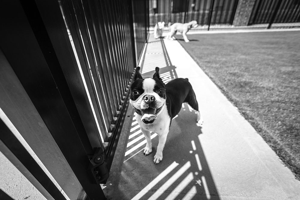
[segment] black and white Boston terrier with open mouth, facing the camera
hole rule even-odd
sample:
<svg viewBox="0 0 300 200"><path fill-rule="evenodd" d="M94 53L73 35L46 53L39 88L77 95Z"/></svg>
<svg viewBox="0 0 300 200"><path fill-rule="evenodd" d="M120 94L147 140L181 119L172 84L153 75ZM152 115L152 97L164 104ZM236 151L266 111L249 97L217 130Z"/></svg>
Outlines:
<svg viewBox="0 0 300 200"><path fill-rule="evenodd" d="M198 126L203 123L195 93L188 79L177 78L165 85L159 76L158 67L155 68L153 77L147 79L142 78L140 67L136 68L129 102L134 107L136 120L147 141L145 155L152 152L150 132L158 134L159 142L153 160L155 164L163 159L163 149L171 121L181 110L182 103L187 102L196 110Z"/></svg>

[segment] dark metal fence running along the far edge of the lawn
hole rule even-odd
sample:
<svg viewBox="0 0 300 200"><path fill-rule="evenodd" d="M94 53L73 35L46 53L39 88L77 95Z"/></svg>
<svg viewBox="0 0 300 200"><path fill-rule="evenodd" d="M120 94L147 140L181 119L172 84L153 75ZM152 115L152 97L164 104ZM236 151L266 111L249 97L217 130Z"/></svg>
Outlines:
<svg viewBox="0 0 300 200"><path fill-rule="evenodd" d="M245 25L234 26L240 4L254 6L238 10L238 17L248 18ZM167 31L168 22L186 23L192 20L199 24L192 30L297 28L300 27L299 4L299 0L150 0L150 30L157 22L164 21Z"/></svg>

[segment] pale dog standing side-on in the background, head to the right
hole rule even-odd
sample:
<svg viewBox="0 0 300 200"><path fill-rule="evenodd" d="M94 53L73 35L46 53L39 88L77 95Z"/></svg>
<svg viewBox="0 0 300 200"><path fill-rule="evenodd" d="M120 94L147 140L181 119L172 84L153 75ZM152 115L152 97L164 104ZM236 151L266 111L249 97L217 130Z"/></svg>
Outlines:
<svg viewBox="0 0 300 200"><path fill-rule="evenodd" d="M188 23L174 23L171 25L171 22L169 22L168 27L169 27L169 33L167 38L168 39L172 39L172 40L176 40L176 38L174 37L174 35L176 35L176 32L179 31L180 33L182 33L183 39L185 42L189 42L190 40L187 39L187 31L189 31L191 28L196 28L198 26L197 21L193 20L191 22Z"/></svg>

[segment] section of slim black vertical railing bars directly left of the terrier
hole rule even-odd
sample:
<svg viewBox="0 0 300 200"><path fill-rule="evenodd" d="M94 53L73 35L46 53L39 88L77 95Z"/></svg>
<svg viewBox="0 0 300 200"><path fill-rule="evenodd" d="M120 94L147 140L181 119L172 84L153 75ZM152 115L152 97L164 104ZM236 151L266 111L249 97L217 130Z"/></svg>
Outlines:
<svg viewBox="0 0 300 200"><path fill-rule="evenodd" d="M108 168L128 99L135 57L141 51L135 52L132 8L128 2L66 0L60 3ZM90 140L95 144L93 148L101 147Z"/></svg>

